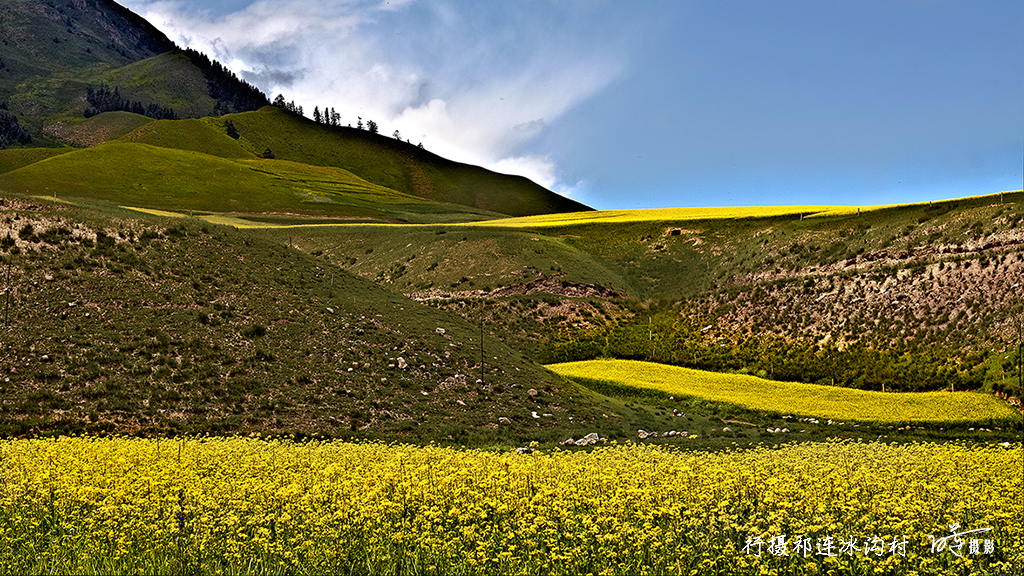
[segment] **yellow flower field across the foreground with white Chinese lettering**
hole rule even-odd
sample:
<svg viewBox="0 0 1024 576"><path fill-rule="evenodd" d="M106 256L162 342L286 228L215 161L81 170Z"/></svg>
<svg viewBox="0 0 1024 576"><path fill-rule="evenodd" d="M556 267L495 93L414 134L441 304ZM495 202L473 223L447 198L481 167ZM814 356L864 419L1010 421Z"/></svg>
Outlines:
<svg viewBox="0 0 1024 576"><path fill-rule="evenodd" d="M1022 459L852 442L0 441L0 572L1013 574Z"/></svg>

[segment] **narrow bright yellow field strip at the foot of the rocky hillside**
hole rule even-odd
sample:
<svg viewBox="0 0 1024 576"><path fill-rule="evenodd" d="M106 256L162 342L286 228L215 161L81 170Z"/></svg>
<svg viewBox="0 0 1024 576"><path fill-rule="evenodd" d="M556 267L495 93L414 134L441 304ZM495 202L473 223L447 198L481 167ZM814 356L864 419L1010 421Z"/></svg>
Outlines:
<svg viewBox="0 0 1024 576"><path fill-rule="evenodd" d="M726 402L753 410L877 422L975 421L1017 413L999 399L976 393L880 393L778 382L634 360L591 360L548 366L567 378L607 380L676 396Z"/></svg>

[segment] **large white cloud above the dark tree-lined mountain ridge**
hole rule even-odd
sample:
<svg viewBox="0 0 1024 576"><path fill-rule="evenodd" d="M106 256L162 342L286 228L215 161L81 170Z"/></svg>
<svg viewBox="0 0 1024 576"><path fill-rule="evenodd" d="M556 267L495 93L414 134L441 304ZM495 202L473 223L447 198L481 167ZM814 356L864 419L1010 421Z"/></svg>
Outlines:
<svg viewBox="0 0 1024 576"><path fill-rule="evenodd" d="M572 190L529 143L625 64L605 38L559 34L519 3L258 0L213 16L189 2L126 4L271 98L284 93L309 114L334 108L343 123L373 119L382 133L397 129L441 156L547 188Z"/></svg>

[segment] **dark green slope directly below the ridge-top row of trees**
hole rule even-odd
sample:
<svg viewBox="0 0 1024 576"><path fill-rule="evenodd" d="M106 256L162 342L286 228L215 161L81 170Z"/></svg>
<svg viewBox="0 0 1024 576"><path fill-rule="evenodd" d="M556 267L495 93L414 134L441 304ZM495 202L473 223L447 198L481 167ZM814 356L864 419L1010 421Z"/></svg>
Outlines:
<svg viewBox="0 0 1024 576"><path fill-rule="evenodd" d="M100 117L115 114L123 117L125 113ZM105 127L113 118L102 124L90 121L69 122L65 132L71 133L74 129L82 140L89 137L91 129L91 137L95 140L102 139L99 134L118 135L118 139L125 142L226 159L259 158L269 153L280 160L342 168L411 197L468 206L494 216L589 210L521 176L452 162L407 142L364 130L319 125L273 107L222 118L140 122L143 125L124 135ZM237 139L227 135L228 122L238 131ZM181 205L176 208L194 207Z"/></svg>

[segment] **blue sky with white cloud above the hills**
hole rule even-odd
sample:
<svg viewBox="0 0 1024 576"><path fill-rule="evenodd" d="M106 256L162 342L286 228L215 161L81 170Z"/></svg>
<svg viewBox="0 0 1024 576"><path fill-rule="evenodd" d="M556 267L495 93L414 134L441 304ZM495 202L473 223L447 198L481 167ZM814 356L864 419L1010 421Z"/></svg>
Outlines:
<svg viewBox="0 0 1024 576"><path fill-rule="evenodd" d="M270 97L599 209L1022 188L1019 0L122 0Z"/></svg>

